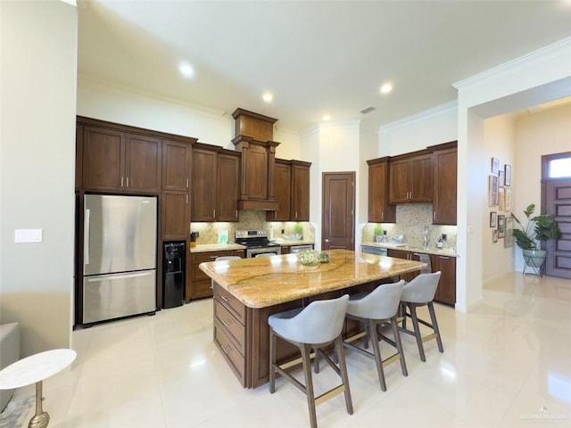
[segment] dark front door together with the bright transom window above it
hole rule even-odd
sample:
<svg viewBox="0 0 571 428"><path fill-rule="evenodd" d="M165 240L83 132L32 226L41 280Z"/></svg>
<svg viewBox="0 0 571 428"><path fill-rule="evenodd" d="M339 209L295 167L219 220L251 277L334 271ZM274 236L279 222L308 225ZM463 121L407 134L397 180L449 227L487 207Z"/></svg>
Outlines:
<svg viewBox="0 0 571 428"><path fill-rule="evenodd" d="M569 165L571 152L542 156L543 207L561 231L561 239L546 243L545 275L571 279L571 169L565 168L562 175L550 173L550 161L563 160Z"/></svg>

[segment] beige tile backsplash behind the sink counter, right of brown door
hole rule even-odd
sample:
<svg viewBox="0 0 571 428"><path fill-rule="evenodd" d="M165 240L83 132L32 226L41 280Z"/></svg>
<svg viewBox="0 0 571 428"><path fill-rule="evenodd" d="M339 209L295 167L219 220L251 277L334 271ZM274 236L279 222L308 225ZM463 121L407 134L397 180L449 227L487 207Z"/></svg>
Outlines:
<svg viewBox="0 0 571 428"><path fill-rule="evenodd" d="M429 246L436 246L436 241L442 234L446 234L444 248L456 246L457 226L440 226L432 224L432 203L402 203L396 206L396 223L383 223L383 229L389 239L402 235L403 243L421 246L424 243L424 230L428 226ZM375 241L375 226L377 223L368 223L363 227L362 242Z"/></svg>

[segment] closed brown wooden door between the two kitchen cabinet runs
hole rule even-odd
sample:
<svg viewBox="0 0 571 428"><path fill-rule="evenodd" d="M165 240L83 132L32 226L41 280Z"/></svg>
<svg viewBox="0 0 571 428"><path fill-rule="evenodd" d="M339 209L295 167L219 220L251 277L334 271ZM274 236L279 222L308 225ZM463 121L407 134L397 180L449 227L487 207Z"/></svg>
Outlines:
<svg viewBox="0 0 571 428"><path fill-rule="evenodd" d="M355 173L323 173L321 249L355 250Z"/></svg>

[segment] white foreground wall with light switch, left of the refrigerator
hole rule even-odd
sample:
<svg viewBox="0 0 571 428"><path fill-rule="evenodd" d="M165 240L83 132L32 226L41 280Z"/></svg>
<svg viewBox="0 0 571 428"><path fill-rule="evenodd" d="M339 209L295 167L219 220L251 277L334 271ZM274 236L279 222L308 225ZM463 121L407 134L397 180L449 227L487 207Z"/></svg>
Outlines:
<svg viewBox="0 0 571 428"><path fill-rule="evenodd" d="M0 320L22 357L70 346L77 27L70 4L0 2Z"/></svg>

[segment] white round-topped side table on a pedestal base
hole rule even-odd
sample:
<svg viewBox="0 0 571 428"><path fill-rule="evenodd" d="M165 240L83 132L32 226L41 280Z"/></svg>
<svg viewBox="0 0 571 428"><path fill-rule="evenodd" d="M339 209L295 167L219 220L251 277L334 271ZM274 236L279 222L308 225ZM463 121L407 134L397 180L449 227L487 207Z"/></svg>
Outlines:
<svg viewBox="0 0 571 428"><path fill-rule="evenodd" d="M0 390L12 390L36 383L36 415L29 428L46 428L50 416L42 409L42 381L69 366L76 358L75 350L46 350L22 358L0 371Z"/></svg>

